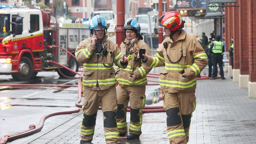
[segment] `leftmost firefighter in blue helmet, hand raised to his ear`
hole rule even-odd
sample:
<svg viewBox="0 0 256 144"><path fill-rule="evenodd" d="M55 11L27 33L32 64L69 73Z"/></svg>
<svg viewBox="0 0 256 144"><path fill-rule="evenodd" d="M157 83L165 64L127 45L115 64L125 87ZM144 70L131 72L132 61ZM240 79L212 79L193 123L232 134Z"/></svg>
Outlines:
<svg viewBox="0 0 256 144"><path fill-rule="evenodd" d="M115 66L126 68L127 57L122 55L117 44L106 35L107 23L99 15L91 18L91 37L77 46L76 60L83 64L83 118L81 122L81 144L92 144L94 127L99 104L104 119L107 144L119 144L117 129L117 93Z"/></svg>

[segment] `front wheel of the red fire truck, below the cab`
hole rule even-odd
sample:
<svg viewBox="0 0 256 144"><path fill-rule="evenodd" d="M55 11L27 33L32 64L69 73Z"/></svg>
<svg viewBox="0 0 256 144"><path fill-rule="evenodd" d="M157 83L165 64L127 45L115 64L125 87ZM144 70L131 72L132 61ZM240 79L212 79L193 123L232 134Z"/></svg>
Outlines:
<svg viewBox="0 0 256 144"><path fill-rule="evenodd" d="M32 62L28 57L21 57L19 64L19 72L12 74L13 79L17 81L27 81L32 77L33 74Z"/></svg>

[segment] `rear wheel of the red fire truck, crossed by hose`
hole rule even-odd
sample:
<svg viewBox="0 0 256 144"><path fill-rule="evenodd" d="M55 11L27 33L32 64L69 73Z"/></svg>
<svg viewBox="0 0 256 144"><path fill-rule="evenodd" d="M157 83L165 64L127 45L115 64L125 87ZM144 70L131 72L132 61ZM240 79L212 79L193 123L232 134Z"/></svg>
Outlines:
<svg viewBox="0 0 256 144"><path fill-rule="evenodd" d="M78 72L78 68L79 68L79 63L76 61L76 59L74 59L74 57L70 57L70 59L69 59L69 68L71 69L71 70L74 70L74 71L76 71L76 72ZM74 77L74 76L76 76L76 74L74 73L74 72L70 72L69 70L67 70L67 69L65 69L65 68L60 68L59 69L65 76L69 76L69 77ZM62 75L61 75L61 73L59 72L59 70L57 70L57 72L58 72L58 74L59 74L59 76L60 77L63 77Z"/></svg>

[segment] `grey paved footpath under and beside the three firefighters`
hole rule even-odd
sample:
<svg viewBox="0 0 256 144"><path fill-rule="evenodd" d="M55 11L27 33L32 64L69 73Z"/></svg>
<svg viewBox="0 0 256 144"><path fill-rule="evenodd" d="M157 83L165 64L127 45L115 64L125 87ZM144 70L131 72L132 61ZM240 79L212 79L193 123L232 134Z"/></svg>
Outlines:
<svg viewBox="0 0 256 144"><path fill-rule="evenodd" d="M230 78L198 80L196 96L197 108L193 113L188 144L256 144L256 99L248 97L247 89L239 89L238 83L232 82ZM52 125L22 143L79 144L82 113L69 116L68 121L61 121L60 118L57 126ZM127 118L130 118L130 113L127 113ZM92 142L106 143L100 110ZM121 144L168 143L165 113L143 114L140 140L121 141Z"/></svg>

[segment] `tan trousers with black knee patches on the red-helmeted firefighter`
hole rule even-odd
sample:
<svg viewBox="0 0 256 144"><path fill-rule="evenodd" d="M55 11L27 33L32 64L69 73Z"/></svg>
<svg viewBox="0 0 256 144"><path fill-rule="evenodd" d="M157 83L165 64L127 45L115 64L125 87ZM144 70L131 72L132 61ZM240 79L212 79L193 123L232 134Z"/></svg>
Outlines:
<svg viewBox="0 0 256 144"><path fill-rule="evenodd" d="M186 144L192 112L195 111L195 90L187 92L164 92L163 108L167 114L167 135L170 144Z"/></svg>

